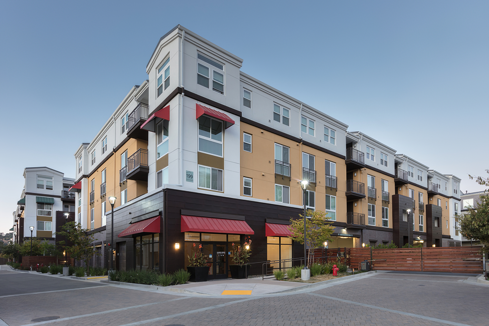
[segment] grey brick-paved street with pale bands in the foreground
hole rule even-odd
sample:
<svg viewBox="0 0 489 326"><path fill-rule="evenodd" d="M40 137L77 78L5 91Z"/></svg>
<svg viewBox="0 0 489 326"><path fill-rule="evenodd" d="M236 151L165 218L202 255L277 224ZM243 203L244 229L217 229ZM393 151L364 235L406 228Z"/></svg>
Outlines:
<svg viewBox="0 0 489 326"><path fill-rule="evenodd" d="M489 325L489 286L463 279L467 276L374 273L309 292L238 297L0 273L0 318L9 326ZM25 292L29 286L34 290ZM16 288L56 292L12 296ZM49 316L59 319L32 322Z"/></svg>

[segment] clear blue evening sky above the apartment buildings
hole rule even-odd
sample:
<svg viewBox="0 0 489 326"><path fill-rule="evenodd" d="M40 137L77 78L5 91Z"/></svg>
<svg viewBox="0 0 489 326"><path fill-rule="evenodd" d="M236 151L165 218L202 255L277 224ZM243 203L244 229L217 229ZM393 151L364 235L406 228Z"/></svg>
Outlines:
<svg viewBox="0 0 489 326"><path fill-rule="evenodd" d="M1 1L0 232L27 166L74 177L177 24L242 71L445 174L489 168L488 1ZM98 118L97 118L98 117Z"/></svg>

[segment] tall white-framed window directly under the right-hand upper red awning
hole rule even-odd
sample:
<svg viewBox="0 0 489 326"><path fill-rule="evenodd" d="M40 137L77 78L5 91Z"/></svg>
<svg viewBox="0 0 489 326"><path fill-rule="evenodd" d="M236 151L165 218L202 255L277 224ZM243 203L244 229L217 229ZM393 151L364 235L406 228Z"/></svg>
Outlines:
<svg viewBox="0 0 489 326"><path fill-rule="evenodd" d="M200 116L199 151L222 157L222 121Z"/></svg>

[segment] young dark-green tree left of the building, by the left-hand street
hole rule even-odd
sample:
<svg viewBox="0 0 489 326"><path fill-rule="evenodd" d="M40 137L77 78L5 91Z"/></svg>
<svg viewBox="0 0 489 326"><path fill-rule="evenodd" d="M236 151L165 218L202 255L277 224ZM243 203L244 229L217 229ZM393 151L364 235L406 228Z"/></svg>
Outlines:
<svg viewBox="0 0 489 326"><path fill-rule="evenodd" d="M82 225L76 224L75 222L68 222L61 229L63 231L57 232L56 234L65 236L67 241L60 241L59 245L66 250L71 258L85 260L88 275L90 258L94 255L100 255L95 252L95 248L93 247L93 235L87 234L90 230L82 229Z"/></svg>

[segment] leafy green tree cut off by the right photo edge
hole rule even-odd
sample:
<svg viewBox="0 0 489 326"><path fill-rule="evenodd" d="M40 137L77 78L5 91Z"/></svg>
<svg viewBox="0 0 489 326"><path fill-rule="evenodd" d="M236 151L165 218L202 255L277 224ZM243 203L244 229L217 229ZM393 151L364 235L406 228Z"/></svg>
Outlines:
<svg viewBox="0 0 489 326"><path fill-rule="evenodd" d="M489 184L488 184L489 185ZM457 215L457 230L467 239L477 239L485 245L482 251L489 252L489 195L481 195L464 215Z"/></svg>

